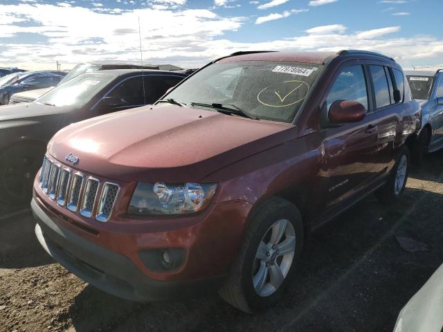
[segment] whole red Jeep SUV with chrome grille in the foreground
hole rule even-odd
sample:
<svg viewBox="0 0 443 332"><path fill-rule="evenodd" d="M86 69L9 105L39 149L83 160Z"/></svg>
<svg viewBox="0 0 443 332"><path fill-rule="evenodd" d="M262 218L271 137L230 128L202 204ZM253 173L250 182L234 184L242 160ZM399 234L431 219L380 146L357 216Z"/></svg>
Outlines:
<svg viewBox="0 0 443 332"><path fill-rule="evenodd" d="M35 178L35 232L118 297L212 287L259 311L284 293L309 232L372 192L403 192L419 126L390 57L234 53L154 106L59 131Z"/></svg>

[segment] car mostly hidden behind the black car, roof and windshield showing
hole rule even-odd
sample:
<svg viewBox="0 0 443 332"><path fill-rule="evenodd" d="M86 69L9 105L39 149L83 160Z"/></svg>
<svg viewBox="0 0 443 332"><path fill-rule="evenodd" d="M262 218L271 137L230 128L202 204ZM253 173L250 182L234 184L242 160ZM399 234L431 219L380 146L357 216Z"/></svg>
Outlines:
<svg viewBox="0 0 443 332"><path fill-rule="evenodd" d="M66 75L57 85L61 85L64 82L68 82L69 80L77 77L78 75L84 73L90 73L91 71L107 71L109 69L141 69L142 66L138 64L124 64L124 63L100 63L94 62L93 64L78 64L74 68L69 71L68 75ZM146 64L143 66L144 69L157 69L161 71L180 71L182 68L173 66L172 64L161 64L161 65L150 65ZM190 75L190 73L186 73L186 75ZM15 93L10 98L10 104L17 104L18 102L33 102L37 98L44 95L49 90L53 89L53 86L45 88L45 89L36 89L32 91L24 91Z"/></svg>

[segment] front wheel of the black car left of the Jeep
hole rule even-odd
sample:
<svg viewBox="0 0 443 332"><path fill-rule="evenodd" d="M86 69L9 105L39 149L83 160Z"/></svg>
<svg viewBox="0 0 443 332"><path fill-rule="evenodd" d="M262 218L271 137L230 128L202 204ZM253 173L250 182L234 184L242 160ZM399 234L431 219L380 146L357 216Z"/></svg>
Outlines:
<svg viewBox="0 0 443 332"><path fill-rule="evenodd" d="M0 151L0 201L13 206L29 203L45 150L43 144L23 142Z"/></svg>

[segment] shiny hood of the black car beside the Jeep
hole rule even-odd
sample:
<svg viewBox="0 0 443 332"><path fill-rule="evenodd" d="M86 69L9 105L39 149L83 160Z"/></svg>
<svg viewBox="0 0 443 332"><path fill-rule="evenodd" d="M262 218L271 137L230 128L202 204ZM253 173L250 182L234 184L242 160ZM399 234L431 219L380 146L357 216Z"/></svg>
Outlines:
<svg viewBox="0 0 443 332"><path fill-rule="evenodd" d="M0 121L37 118L72 111L73 107L56 107L34 102L28 104L8 104L0 107Z"/></svg>

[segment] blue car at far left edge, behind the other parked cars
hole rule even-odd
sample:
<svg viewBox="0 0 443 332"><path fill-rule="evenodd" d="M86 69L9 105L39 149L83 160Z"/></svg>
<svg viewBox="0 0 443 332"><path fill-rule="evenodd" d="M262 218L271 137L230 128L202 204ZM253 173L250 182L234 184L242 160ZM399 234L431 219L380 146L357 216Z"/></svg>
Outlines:
<svg viewBox="0 0 443 332"><path fill-rule="evenodd" d="M64 71L27 71L12 75L16 75L15 78L0 86L0 105L8 104L10 96L19 91L56 86L66 73Z"/></svg>

